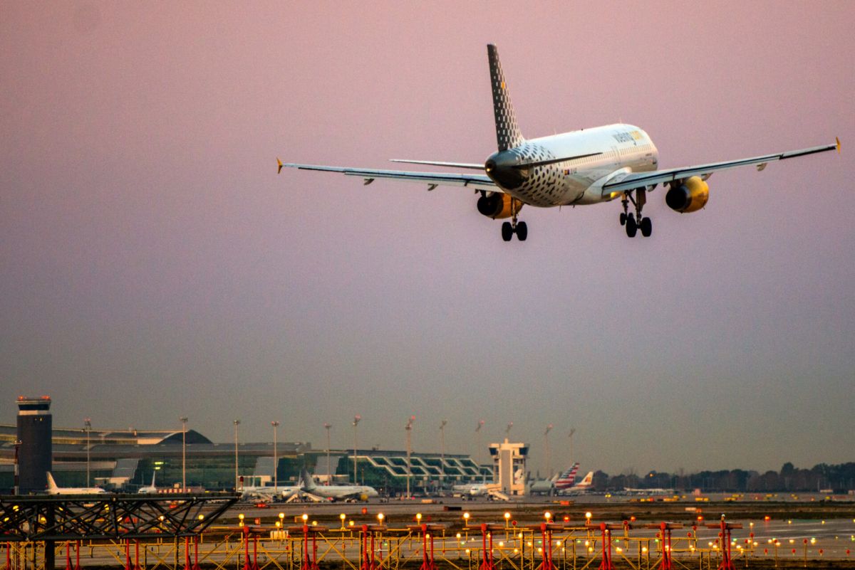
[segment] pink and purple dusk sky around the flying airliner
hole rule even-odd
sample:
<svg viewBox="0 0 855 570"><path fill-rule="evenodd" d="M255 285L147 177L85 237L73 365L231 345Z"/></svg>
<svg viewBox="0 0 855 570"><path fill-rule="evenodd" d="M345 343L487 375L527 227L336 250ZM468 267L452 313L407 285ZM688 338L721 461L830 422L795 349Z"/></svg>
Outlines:
<svg viewBox="0 0 855 570"><path fill-rule="evenodd" d="M823 3L3 3L0 422L475 452L543 469L853 461L855 9ZM640 125L663 167L843 142L650 195L527 207L315 172L479 162L486 44L524 135Z"/></svg>

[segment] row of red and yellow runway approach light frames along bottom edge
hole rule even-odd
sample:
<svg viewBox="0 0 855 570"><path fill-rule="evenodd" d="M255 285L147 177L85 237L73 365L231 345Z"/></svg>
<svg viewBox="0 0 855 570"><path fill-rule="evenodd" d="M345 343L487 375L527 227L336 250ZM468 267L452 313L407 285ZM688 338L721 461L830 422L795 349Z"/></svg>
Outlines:
<svg viewBox="0 0 855 570"><path fill-rule="evenodd" d="M722 523L723 526L723 523ZM727 529L725 529L727 530ZM10 542L5 570L45 567L44 542ZM56 543L56 567L124 570L735 570L851 561L823 544L758 544L753 535L699 538L697 527L556 523L515 527L442 525L210 527L198 538ZM852 566L850 566L852 567Z"/></svg>

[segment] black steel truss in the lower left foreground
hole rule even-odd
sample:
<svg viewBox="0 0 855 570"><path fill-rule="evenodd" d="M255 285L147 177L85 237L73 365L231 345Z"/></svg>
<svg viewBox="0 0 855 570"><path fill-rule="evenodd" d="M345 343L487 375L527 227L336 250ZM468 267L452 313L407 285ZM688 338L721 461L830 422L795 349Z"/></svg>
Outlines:
<svg viewBox="0 0 855 570"><path fill-rule="evenodd" d="M0 542L192 537L238 498L213 493L0 497Z"/></svg>

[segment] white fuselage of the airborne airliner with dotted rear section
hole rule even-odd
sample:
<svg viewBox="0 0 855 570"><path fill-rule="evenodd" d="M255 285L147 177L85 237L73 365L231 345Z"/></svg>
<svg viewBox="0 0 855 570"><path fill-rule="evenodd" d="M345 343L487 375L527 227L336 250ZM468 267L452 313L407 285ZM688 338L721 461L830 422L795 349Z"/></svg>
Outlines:
<svg viewBox="0 0 855 570"><path fill-rule="evenodd" d="M508 151L522 162L563 156L594 154L551 165L534 166L524 182L505 188L508 194L531 206L551 207L597 204L622 193L603 195L602 185L619 172L655 171L659 153L645 131L634 125L605 125L551 137L533 138ZM489 172L488 172L489 174Z"/></svg>

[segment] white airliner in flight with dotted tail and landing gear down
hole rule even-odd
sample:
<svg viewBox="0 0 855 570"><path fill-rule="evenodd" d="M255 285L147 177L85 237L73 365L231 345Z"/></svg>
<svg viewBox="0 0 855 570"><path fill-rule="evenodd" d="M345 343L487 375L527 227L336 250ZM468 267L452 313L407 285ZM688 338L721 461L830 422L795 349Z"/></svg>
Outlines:
<svg viewBox="0 0 855 570"><path fill-rule="evenodd" d="M642 215L647 193L658 184L667 186L665 203L675 212L697 212L709 200L710 187L706 181L713 172L738 166L754 165L758 171L773 160L791 159L806 154L837 149L834 144L802 148L784 153L764 154L740 160L659 170L659 153L650 136L634 125L606 125L581 131L565 132L551 137L526 139L516 124L516 113L510 103L508 85L498 61L498 50L487 45L492 82L492 105L496 119L498 151L483 164L441 162L434 160L392 160L410 164L451 167L474 171L471 173L410 172L350 168L346 166L315 166L283 164L283 166L325 172L340 172L345 176L363 178L370 184L377 178L392 178L428 185L463 186L480 194L477 207L487 218L506 219L502 224L502 239L510 241L516 234L524 241L528 226L518 220L522 206L586 206L620 200L623 211L620 222L627 236L652 233L651 219ZM634 212L629 211L632 203Z"/></svg>

